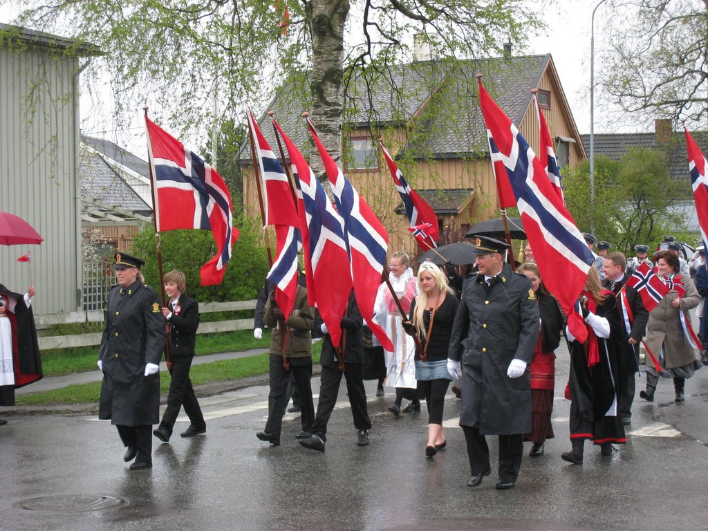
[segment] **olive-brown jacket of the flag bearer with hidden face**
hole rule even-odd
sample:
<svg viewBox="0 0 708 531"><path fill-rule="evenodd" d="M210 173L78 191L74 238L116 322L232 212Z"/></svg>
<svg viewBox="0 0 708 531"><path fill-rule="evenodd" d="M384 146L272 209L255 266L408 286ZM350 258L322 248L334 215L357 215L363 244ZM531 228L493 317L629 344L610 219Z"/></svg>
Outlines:
<svg viewBox="0 0 708 531"><path fill-rule="evenodd" d="M263 322L265 326L273 329L270 333L270 353L283 354L278 320L273 316L273 304L273 299L268 297L268 302L265 303L265 311L263 312ZM297 286L295 305L292 308L292 313L287 316L286 322L287 328L290 329L290 334L285 348L285 357L311 358L312 341L310 331L314 324L314 309L307 304L307 290L300 285Z"/></svg>

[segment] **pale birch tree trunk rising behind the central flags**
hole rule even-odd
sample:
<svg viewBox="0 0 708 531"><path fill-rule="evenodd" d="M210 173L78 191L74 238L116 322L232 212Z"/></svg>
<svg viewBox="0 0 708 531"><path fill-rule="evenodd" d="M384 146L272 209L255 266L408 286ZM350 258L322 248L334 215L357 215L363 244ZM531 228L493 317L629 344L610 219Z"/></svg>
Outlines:
<svg viewBox="0 0 708 531"><path fill-rule="evenodd" d="M312 120L322 144L341 166L342 63L349 0L311 0L308 8L312 25ZM310 157L310 166L320 181L326 178L319 154Z"/></svg>

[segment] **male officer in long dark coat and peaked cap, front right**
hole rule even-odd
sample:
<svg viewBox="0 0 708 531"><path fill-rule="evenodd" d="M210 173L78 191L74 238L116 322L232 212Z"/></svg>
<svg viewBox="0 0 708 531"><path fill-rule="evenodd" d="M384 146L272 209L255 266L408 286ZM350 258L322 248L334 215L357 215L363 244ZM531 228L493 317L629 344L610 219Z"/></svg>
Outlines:
<svg viewBox="0 0 708 531"><path fill-rule="evenodd" d="M499 436L499 481L511 489L521 467L523 433L531 431L531 384L539 314L531 281L513 273L503 253L508 244L477 236L479 273L464 283L450 337L447 370L462 372L459 423L467 440L471 475L478 486L491 473L485 435ZM462 364L460 363L462 362ZM462 366L461 366L462 365Z"/></svg>

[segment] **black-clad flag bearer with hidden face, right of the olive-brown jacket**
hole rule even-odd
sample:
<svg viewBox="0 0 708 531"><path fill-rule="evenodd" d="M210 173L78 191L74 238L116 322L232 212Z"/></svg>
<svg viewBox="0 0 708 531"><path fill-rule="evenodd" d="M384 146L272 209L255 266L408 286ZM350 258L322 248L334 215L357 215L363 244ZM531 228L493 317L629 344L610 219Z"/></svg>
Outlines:
<svg viewBox="0 0 708 531"><path fill-rule="evenodd" d="M315 313L313 338L324 338L320 364L322 372L319 385L319 402L317 415L312 423L312 435L300 439L300 444L312 450L324 452L324 443L327 440L327 423L337 403L339 384L342 375L347 382L347 394L354 418L354 427L357 429L357 445L369 444L369 429L371 420L366 406L366 391L364 389L364 343L362 338L362 319L359 307L356 304L354 292L349 294L346 313L342 317L342 338L339 346L343 360L337 359L329 330L322 320L319 312ZM343 361L343 365L341 365Z"/></svg>

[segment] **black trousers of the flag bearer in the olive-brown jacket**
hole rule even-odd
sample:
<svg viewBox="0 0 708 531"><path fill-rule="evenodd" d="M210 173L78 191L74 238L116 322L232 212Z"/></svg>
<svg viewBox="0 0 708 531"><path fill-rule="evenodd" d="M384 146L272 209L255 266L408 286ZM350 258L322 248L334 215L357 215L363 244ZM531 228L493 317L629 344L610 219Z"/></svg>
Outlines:
<svg viewBox="0 0 708 531"><path fill-rule="evenodd" d="M300 362L296 360L296 362ZM287 405L287 382L290 372L295 377L295 384L300 393L300 423L302 430L312 430L314 421L314 404L312 403L312 358L307 358L309 363L295 365L290 363L290 370L285 370L282 366L282 355L270 355L270 393L268 393L268 421L265 423L265 431L280 437L282 428L282 416Z"/></svg>

